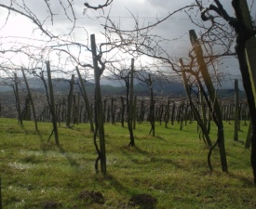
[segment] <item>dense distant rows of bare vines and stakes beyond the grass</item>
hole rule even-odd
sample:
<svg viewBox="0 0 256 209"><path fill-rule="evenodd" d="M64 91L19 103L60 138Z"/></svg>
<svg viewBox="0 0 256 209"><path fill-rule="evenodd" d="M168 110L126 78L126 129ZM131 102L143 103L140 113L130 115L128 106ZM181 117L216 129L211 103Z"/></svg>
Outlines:
<svg viewBox="0 0 256 209"><path fill-rule="evenodd" d="M67 82L68 83L68 82ZM55 100L56 100L56 112L59 123L66 123L67 118L67 106L68 106L68 94L70 89L67 86L64 87L65 92L60 92L60 88L56 89ZM243 93L243 92L241 92ZM33 94L34 107L37 116L37 120L40 122L50 122L51 114L47 103L46 92L35 91ZM31 103L27 97L26 90L20 91L20 109L22 111L23 120L34 120L32 114ZM1 101L1 116L7 118L18 118L18 111L16 107L16 98L13 92L8 91L0 94ZM89 96L90 107L94 106L94 97ZM128 121L127 115L127 98L124 94L118 96L104 96L103 100L103 114L105 123L122 123ZM196 100L196 99L195 99ZM234 91L231 91L229 98L223 98L220 96L222 104L222 119L224 121L235 120L235 97ZM171 97L159 97L154 98L155 102L155 121L165 124L173 124L174 122L194 121L195 117L190 107L189 100L182 95L172 95ZM85 105L85 101L82 98L82 93L79 88L73 95L73 99L70 104L72 106L72 122L73 124L88 123L88 114ZM197 108L200 110L200 101L195 101ZM137 123L148 122L150 113L150 97L136 97L135 103L135 121ZM239 106L239 121L244 121L246 124L249 121L249 108L244 95L238 101ZM94 112L94 111L92 111Z"/></svg>

